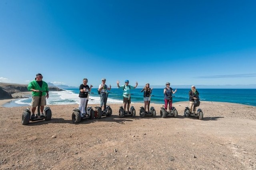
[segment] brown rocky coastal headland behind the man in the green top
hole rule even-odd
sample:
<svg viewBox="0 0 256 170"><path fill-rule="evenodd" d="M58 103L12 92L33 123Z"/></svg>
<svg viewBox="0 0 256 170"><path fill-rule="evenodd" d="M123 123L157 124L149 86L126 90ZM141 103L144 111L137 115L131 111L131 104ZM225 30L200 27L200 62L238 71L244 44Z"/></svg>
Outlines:
<svg viewBox="0 0 256 170"><path fill-rule="evenodd" d="M58 87L49 86L49 91L63 91ZM10 84L0 82L0 99L12 99L12 94L18 92L28 92L27 84Z"/></svg>

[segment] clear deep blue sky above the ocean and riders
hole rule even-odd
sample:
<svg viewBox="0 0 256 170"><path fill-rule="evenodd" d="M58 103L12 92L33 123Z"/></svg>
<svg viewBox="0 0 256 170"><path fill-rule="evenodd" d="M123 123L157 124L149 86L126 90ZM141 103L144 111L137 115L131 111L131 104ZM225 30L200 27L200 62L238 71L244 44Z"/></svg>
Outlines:
<svg viewBox="0 0 256 170"><path fill-rule="evenodd" d="M0 82L256 88L255 0L1 0ZM246 86L245 86L246 87Z"/></svg>

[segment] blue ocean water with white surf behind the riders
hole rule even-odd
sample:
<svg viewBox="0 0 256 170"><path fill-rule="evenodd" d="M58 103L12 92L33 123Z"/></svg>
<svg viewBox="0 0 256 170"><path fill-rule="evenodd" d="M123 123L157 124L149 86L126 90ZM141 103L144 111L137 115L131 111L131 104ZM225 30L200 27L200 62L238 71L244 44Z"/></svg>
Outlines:
<svg viewBox="0 0 256 170"><path fill-rule="evenodd" d="M78 88L64 89L61 92L49 92L47 104L78 104ZM132 103L143 103L142 88L132 90ZM175 88L174 88L175 90ZM174 94L173 103L188 101L188 92L190 89L177 89ZM201 101L211 102L230 102L237 104L246 104L256 106L256 89L197 89L200 93ZM108 104L123 103L122 89L112 88L109 91ZM164 104L164 88L154 88L152 90L151 103ZM31 96L29 98L13 100L4 105L4 107L30 106ZM88 104L100 104L100 96L96 88L92 88Z"/></svg>

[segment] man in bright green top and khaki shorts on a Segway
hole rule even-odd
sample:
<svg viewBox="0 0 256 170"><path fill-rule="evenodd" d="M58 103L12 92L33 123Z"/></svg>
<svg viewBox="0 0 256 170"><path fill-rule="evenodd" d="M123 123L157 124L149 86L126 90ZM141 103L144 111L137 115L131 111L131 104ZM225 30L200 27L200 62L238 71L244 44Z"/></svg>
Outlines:
<svg viewBox="0 0 256 170"><path fill-rule="evenodd" d="M39 104L40 91L42 92L42 99L40 104L40 113L43 114L44 106L46 106L46 98L49 98L48 84L44 82L42 74L36 74L35 80L28 84L28 90L32 91L32 115L31 118L35 117L36 107Z"/></svg>

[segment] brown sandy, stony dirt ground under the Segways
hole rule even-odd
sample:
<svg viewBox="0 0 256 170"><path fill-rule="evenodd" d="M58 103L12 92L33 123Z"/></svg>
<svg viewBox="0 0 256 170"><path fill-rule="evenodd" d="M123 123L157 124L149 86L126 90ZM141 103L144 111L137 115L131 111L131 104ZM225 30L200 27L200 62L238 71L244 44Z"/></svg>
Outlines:
<svg viewBox="0 0 256 170"><path fill-rule="evenodd" d="M52 105L50 121L21 124L24 107L0 107L1 170L256 170L256 107L201 102L204 119L112 116L73 124L78 105ZM95 105L90 105L95 106Z"/></svg>

